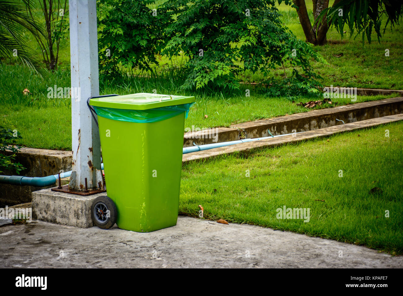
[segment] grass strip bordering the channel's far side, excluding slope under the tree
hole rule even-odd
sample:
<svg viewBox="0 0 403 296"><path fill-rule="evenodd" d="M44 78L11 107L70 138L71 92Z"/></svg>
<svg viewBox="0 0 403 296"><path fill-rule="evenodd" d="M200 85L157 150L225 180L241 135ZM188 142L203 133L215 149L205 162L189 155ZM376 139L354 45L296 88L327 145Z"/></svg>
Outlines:
<svg viewBox="0 0 403 296"><path fill-rule="evenodd" d="M29 81L30 71L22 68L19 72L11 65L0 65L3 70L6 83L0 84L0 122L13 126L22 135L19 144L27 147L71 150L71 101L70 99L52 99L47 97L46 89L64 81L67 83L69 76L64 70L58 70L49 80L43 81L38 77L31 80L32 88L29 87L30 95L24 95L26 82ZM25 74L25 75L22 75ZM22 78L22 79L21 79ZM68 77L69 78L69 77ZM113 81L100 81L102 94L126 94L139 92L153 92L158 85L162 93L170 93L172 82L169 80L150 81L144 79L137 81L128 78L121 85ZM59 85L59 84L58 84ZM65 84L68 85L68 84ZM44 91L45 90L45 91ZM192 94L179 91L178 94ZM284 97L266 97L265 95L251 91L250 97L245 97L242 89L237 95L226 97L216 93L209 96L200 92L196 95L196 104L190 109L189 116L185 120L185 128L194 125L197 128L212 128L218 126L230 126L240 122L272 118L285 114L306 112L307 109L297 106ZM378 100L388 96L358 96L359 103L368 100ZM306 101L305 98L299 98ZM334 99L334 105L352 103L351 99ZM325 104L326 105L326 104ZM326 108L326 106L318 108ZM208 117L205 118L205 115Z"/></svg>

